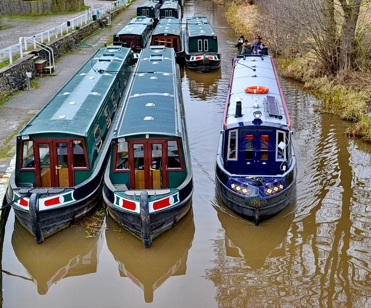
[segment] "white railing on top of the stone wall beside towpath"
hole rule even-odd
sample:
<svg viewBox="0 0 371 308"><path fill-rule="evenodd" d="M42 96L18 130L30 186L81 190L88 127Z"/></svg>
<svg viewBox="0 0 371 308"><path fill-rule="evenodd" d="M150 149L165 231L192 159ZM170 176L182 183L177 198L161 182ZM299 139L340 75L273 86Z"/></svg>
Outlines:
<svg viewBox="0 0 371 308"><path fill-rule="evenodd" d="M41 44L44 44L45 42L49 43L52 39L57 39L64 34L68 34L70 31L75 29L75 27L82 26L83 24L87 24L88 22L92 21L93 15L96 15L97 17L102 15L106 16L108 12L119 7L127 7L130 3L131 0L117 0L106 5L102 5L102 3L92 3L92 6L89 8L89 10L85 10L84 14L72 18L54 28L45 30L33 36L29 36L27 39L33 41L34 49L36 49L37 42ZM110 24L110 17L108 21ZM13 55L18 54L20 54L21 58L23 58L23 51L27 50L27 41L29 40L23 40L25 45L23 45L22 41L20 40L17 44L0 49L0 61L9 59L9 63L11 64L13 63Z"/></svg>

